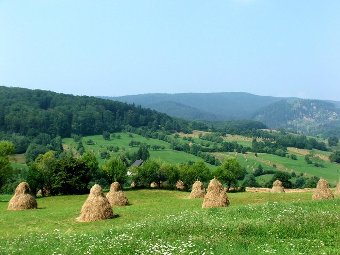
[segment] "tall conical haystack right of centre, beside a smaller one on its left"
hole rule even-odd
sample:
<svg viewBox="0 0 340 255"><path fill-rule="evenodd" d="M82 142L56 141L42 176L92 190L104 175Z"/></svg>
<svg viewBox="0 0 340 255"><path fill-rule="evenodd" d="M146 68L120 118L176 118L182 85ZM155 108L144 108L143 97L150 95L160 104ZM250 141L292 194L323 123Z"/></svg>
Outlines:
<svg viewBox="0 0 340 255"><path fill-rule="evenodd" d="M208 186L208 192L204 197L202 208L223 207L229 205L229 198L223 185L216 178L212 179Z"/></svg>

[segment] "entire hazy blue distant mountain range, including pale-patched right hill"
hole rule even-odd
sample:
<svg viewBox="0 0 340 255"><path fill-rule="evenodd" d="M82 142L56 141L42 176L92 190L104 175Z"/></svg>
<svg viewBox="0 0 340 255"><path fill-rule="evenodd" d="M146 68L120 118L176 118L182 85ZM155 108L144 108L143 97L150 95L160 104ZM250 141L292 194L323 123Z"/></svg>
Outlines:
<svg viewBox="0 0 340 255"><path fill-rule="evenodd" d="M246 92L141 94L100 97L141 105L191 120L259 120L272 129L284 127L318 134L340 124L339 101L258 96Z"/></svg>

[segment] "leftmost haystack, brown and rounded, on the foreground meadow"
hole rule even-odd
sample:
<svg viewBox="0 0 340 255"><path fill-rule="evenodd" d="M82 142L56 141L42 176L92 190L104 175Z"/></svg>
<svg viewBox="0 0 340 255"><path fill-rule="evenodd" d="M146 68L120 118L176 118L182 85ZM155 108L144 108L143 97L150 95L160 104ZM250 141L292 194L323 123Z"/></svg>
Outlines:
<svg viewBox="0 0 340 255"><path fill-rule="evenodd" d="M8 203L8 210L29 210L38 209L38 204L31 194L30 187L26 182L20 183L14 196Z"/></svg>

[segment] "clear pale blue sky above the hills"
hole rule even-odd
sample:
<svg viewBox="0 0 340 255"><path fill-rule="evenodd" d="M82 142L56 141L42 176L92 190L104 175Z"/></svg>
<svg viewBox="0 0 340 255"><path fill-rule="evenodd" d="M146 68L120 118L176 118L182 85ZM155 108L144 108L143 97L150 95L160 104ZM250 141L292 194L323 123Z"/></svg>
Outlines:
<svg viewBox="0 0 340 255"><path fill-rule="evenodd" d="M0 85L340 101L340 1L0 0Z"/></svg>

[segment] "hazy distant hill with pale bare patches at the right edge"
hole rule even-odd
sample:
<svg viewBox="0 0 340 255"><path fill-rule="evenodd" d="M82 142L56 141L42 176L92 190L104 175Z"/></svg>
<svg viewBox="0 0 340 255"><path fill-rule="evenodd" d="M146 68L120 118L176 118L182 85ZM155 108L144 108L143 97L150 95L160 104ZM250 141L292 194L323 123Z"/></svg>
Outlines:
<svg viewBox="0 0 340 255"><path fill-rule="evenodd" d="M317 135L339 126L340 109L321 100L282 100L257 110L252 119L273 129L283 127Z"/></svg>

